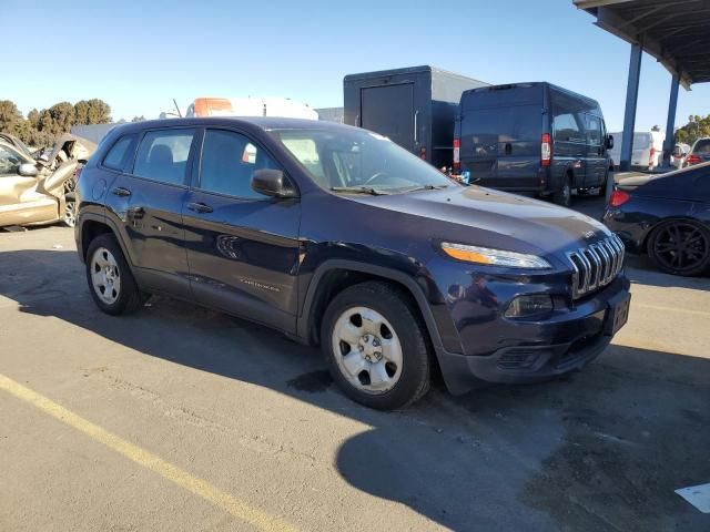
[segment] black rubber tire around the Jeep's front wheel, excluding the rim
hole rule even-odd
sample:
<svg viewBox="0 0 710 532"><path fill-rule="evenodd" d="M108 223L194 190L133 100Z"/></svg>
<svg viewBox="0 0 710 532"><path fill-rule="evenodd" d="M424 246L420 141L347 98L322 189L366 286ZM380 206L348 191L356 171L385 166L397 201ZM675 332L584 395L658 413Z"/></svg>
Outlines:
<svg viewBox="0 0 710 532"><path fill-rule="evenodd" d="M334 327L348 309L366 307L382 315L394 328L402 347L400 375L392 389L373 393L356 388L343 374L334 351ZM321 325L321 346L331 375L343 392L361 405L377 410L405 408L426 395L429 389L429 340L418 314L413 313L406 295L398 288L379 282L351 286L328 305Z"/></svg>

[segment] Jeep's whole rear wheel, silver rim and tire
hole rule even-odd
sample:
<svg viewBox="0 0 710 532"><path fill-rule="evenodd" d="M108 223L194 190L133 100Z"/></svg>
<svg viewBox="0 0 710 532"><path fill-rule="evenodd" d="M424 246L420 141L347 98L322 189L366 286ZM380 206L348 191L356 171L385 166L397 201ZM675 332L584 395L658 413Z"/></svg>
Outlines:
<svg viewBox="0 0 710 532"><path fill-rule="evenodd" d="M145 300L121 246L110 233L97 236L89 244L87 280L97 306L112 316L133 313Z"/></svg>

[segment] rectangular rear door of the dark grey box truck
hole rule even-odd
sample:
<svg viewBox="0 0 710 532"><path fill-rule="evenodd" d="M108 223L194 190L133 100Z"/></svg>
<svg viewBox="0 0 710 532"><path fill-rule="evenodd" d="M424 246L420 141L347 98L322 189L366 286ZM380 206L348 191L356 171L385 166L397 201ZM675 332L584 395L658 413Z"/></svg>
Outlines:
<svg viewBox="0 0 710 532"><path fill-rule="evenodd" d="M361 113L363 127L414 151L414 83L362 89Z"/></svg>

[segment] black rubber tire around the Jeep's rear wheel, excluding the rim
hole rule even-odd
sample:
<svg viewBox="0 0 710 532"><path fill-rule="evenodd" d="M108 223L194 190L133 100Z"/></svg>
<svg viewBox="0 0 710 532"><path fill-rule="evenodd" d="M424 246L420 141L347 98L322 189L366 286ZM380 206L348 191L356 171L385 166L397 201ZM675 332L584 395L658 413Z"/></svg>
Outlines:
<svg viewBox="0 0 710 532"><path fill-rule="evenodd" d="M92 268L93 257L100 249L106 249L115 259L118 277L120 278L120 290L118 293L118 297L112 303L106 303L97 291L92 282ZM146 295L141 293L139 289L135 279L133 278L133 274L131 273L131 268L123 256L123 252L121 250L121 246L115 239L115 236L111 233L104 233L97 236L91 244L89 244L89 249L87 250L87 283L89 284L89 291L91 293L91 297L93 298L97 306L104 311L105 314L110 314L111 316L119 316L123 314L131 314L141 308L143 303L146 299Z"/></svg>

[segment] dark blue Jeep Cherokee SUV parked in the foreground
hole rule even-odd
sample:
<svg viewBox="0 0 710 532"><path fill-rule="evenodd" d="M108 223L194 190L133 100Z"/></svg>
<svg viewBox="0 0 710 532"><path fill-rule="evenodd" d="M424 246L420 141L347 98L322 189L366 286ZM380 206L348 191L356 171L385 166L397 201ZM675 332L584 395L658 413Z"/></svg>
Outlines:
<svg viewBox="0 0 710 532"><path fill-rule="evenodd" d="M623 245L581 214L449 181L375 133L286 119L115 127L78 184L101 310L166 294L323 347L402 408L581 368L626 323Z"/></svg>

